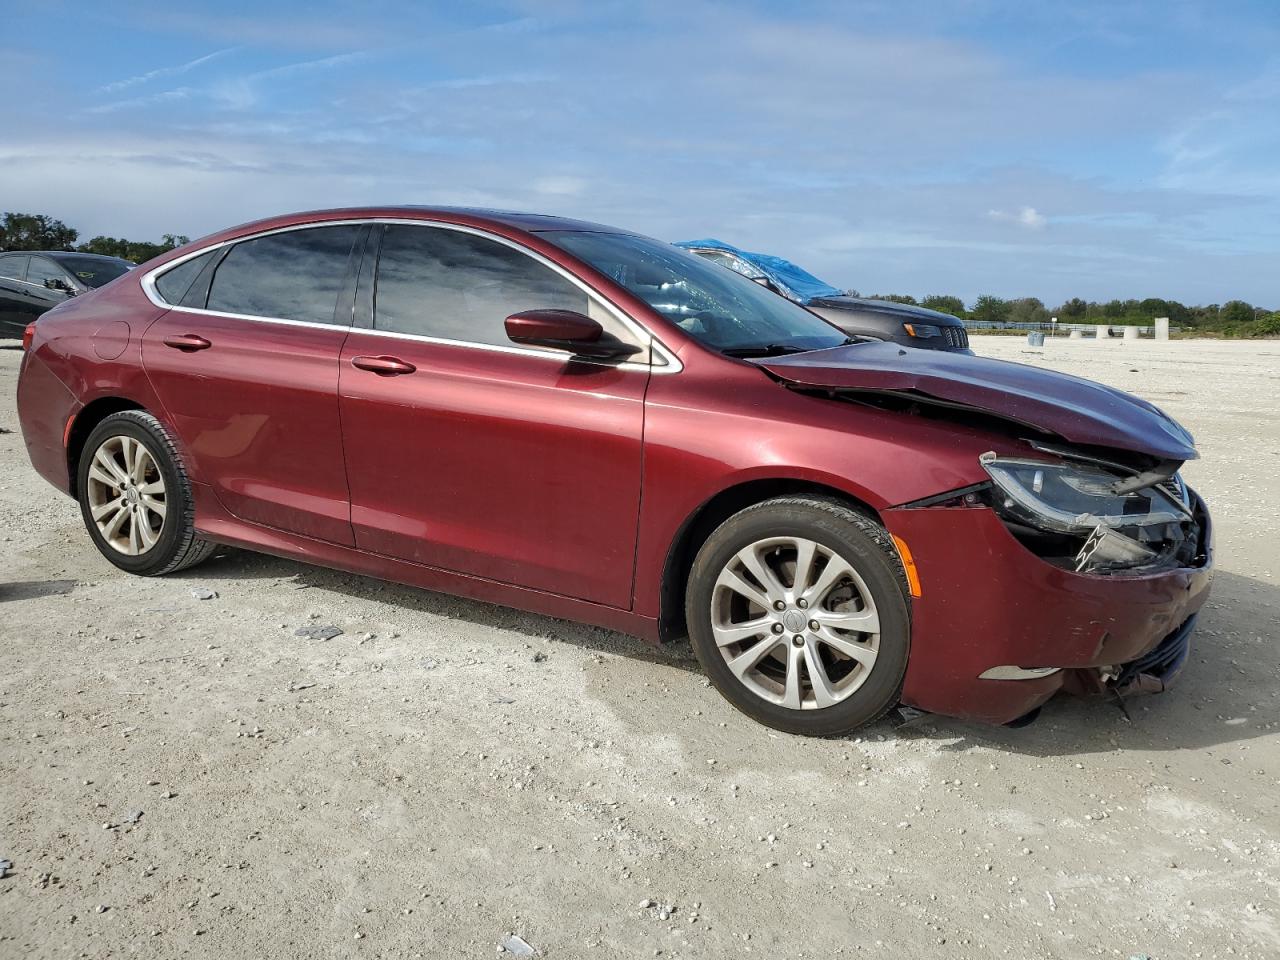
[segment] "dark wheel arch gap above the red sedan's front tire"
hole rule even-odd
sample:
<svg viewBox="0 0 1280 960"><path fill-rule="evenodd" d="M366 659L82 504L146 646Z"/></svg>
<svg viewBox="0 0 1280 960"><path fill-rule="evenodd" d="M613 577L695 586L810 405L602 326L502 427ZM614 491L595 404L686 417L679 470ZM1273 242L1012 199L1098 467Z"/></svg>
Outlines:
<svg viewBox="0 0 1280 960"><path fill-rule="evenodd" d="M728 486L699 504L698 509L685 518L667 549L663 562L662 584L659 589L658 635L672 640L685 634L685 589L689 571L698 550L712 532L741 509L774 497L794 497L809 494L838 500L846 507L882 522L879 513L865 500L851 495L847 490L815 480L795 477L762 477L746 480Z"/></svg>

